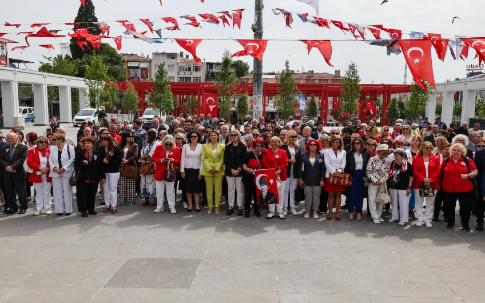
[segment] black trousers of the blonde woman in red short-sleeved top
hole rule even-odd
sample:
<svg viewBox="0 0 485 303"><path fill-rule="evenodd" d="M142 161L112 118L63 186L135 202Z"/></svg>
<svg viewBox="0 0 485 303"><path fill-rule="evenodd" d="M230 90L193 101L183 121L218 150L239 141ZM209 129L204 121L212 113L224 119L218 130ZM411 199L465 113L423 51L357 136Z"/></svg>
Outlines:
<svg viewBox="0 0 485 303"><path fill-rule="evenodd" d="M456 208L456 200L460 204L461 224L468 226L471 213L471 205L473 199L473 191L467 192L447 192L443 191L443 206L445 209L448 225L454 226L454 215Z"/></svg>

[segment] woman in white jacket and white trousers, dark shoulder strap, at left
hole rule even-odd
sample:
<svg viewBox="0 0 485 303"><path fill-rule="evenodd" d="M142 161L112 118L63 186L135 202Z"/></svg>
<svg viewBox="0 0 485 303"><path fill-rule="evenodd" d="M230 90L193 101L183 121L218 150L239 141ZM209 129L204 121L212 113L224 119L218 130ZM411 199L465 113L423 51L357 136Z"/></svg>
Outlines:
<svg viewBox="0 0 485 303"><path fill-rule="evenodd" d="M69 216L72 213L72 186L69 178L74 173L74 146L65 144L65 135L55 133L53 144L50 147L49 157L49 176L52 178L52 188L54 190L54 206L58 216ZM63 204L64 193L64 204Z"/></svg>

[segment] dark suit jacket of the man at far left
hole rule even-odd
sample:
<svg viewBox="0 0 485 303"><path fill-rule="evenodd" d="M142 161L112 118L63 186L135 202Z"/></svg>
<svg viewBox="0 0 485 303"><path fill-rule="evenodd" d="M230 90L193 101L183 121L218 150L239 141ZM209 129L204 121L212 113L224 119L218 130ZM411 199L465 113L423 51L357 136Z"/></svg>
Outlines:
<svg viewBox="0 0 485 303"><path fill-rule="evenodd" d="M24 171L24 162L27 160L27 145L17 143L15 148L14 157L10 159L10 144L7 144L0 149L0 166L3 169L3 178L10 180L10 176L16 179L25 179L27 174ZM8 149L8 151L7 151ZM9 173L5 170L8 166L12 167L16 173Z"/></svg>

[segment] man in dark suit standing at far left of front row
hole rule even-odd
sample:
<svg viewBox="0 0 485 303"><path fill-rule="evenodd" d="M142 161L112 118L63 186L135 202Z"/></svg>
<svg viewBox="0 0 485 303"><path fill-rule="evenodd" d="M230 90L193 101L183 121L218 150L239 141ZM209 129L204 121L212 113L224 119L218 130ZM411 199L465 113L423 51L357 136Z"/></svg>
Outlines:
<svg viewBox="0 0 485 303"><path fill-rule="evenodd" d="M27 184L23 164L27 160L27 145L18 143L18 135L9 133L7 135L8 145L0 148L0 166L3 169L3 179L7 193L7 215L18 211L16 203L16 193L20 203L19 215L23 215L27 210Z"/></svg>

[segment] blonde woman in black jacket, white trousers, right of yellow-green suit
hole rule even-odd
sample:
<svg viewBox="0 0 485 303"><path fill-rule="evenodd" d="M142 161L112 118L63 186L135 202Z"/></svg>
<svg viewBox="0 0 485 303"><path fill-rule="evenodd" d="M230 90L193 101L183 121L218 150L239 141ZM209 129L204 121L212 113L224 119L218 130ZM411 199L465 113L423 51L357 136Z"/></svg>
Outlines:
<svg viewBox="0 0 485 303"><path fill-rule="evenodd" d="M226 127L226 126L225 126ZM247 153L247 146L242 140L241 133L237 130L232 130L229 133L229 143L224 149L224 165L226 181L227 181L227 203L229 208L226 215L230 216L234 213L234 201L236 201L239 209L238 216L242 216L242 200L244 198L244 190L242 188L242 165L244 155Z"/></svg>

